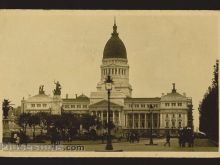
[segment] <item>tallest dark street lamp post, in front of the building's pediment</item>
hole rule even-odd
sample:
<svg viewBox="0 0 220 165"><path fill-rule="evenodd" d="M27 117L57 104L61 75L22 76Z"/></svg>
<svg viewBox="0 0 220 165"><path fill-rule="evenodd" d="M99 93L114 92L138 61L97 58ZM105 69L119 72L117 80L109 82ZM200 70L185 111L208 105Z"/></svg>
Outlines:
<svg viewBox="0 0 220 165"><path fill-rule="evenodd" d="M108 75L105 81L105 89L108 91L108 135L107 135L107 144L105 149L106 150L113 150L112 146L112 138L111 138L111 128L110 128L110 94L112 90L112 79L110 75Z"/></svg>

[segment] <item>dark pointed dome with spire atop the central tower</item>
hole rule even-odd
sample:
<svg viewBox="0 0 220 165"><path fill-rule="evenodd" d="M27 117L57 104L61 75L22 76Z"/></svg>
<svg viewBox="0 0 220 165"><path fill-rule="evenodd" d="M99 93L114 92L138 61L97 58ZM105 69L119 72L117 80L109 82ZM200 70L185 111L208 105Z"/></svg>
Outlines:
<svg viewBox="0 0 220 165"><path fill-rule="evenodd" d="M117 26L114 23L113 33L111 38L107 41L104 52L103 59L106 58L124 58L127 59L127 52L124 43L118 37Z"/></svg>

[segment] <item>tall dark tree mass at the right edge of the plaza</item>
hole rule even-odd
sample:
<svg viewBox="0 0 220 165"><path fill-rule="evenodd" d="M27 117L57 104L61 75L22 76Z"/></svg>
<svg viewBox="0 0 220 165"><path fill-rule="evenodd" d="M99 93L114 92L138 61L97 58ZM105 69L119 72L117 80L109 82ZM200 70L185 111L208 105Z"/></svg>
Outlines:
<svg viewBox="0 0 220 165"><path fill-rule="evenodd" d="M199 105L199 129L216 142L218 142L219 139L218 65L219 61L216 60L212 84L208 87L208 91L205 93L203 100Z"/></svg>

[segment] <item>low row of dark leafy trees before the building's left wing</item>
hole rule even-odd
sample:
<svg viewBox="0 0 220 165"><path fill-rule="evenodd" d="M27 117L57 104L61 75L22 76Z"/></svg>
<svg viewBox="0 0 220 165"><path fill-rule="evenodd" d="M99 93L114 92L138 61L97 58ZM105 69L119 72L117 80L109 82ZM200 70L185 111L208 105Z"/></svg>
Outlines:
<svg viewBox="0 0 220 165"><path fill-rule="evenodd" d="M33 128L33 136L35 136L36 127L40 127L41 130L46 129L49 131L53 126L59 130L74 130L77 132L80 129L80 125L88 132L91 127L95 129L107 128L107 122L102 123L96 116L90 114L83 114L82 116L63 113L62 115L51 115L48 113L40 112L36 114L23 113L18 118L18 125L23 128L26 133L27 127ZM114 128L113 123L109 123L111 129ZM34 138L34 137L33 137Z"/></svg>

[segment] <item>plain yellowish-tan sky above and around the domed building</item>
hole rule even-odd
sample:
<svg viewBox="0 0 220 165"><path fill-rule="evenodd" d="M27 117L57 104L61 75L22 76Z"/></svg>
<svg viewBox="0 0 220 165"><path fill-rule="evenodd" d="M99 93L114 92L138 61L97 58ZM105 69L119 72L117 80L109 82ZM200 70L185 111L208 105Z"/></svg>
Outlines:
<svg viewBox="0 0 220 165"><path fill-rule="evenodd" d="M62 97L96 91L103 50L114 16L125 44L133 97L177 92L192 97L194 125L198 105L211 84L219 56L219 17L205 11L0 11L0 100L14 106L38 94Z"/></svg>

